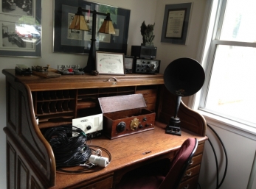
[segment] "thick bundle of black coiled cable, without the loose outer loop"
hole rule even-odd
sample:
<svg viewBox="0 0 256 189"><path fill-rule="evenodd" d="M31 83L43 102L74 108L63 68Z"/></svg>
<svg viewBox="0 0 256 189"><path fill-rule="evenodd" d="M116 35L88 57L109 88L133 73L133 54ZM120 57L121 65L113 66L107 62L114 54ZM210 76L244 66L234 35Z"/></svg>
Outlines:
<svg viewBox="0 0 256 189"><path fill-rule="evenodd" d="M69 124L46 129L44 137L52 146L56 167L80 165L91 156L86 133L76 126Z"/></svg>

